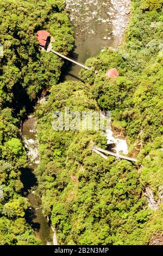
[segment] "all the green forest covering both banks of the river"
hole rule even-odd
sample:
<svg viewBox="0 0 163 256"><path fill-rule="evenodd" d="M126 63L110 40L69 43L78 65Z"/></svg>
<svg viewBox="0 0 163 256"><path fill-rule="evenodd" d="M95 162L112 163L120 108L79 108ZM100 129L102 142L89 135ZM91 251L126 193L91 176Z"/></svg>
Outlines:
<svg viewBox="0 0 163 256"><path fill-rule="evenodd" d="M27 159L19 139L19 121L42 88L47 101L36 109L41 162L36 169L43 214L60 244L148 245L162 232L162 204L148 208L143 191L152 188L158 200L162 186L162 0L133 0L126 42L117 51L105 49L87 60L82 82L57 84L62 61L38 50L36 31L54 37L55 50L72 50L73 33L64 0L3 1L0 40L0 243L39 245L24 218L29 207L21 196L22 167ZM116 80L106 71L116 68ZM94 71L98 70L98 75ZM55 131L54 112L112 111L113 124L126 130L128 142L139 141L138 164L92 153L92 144L105 148L94 131ZM15 111L16 109L16 111Z"/></svg>

